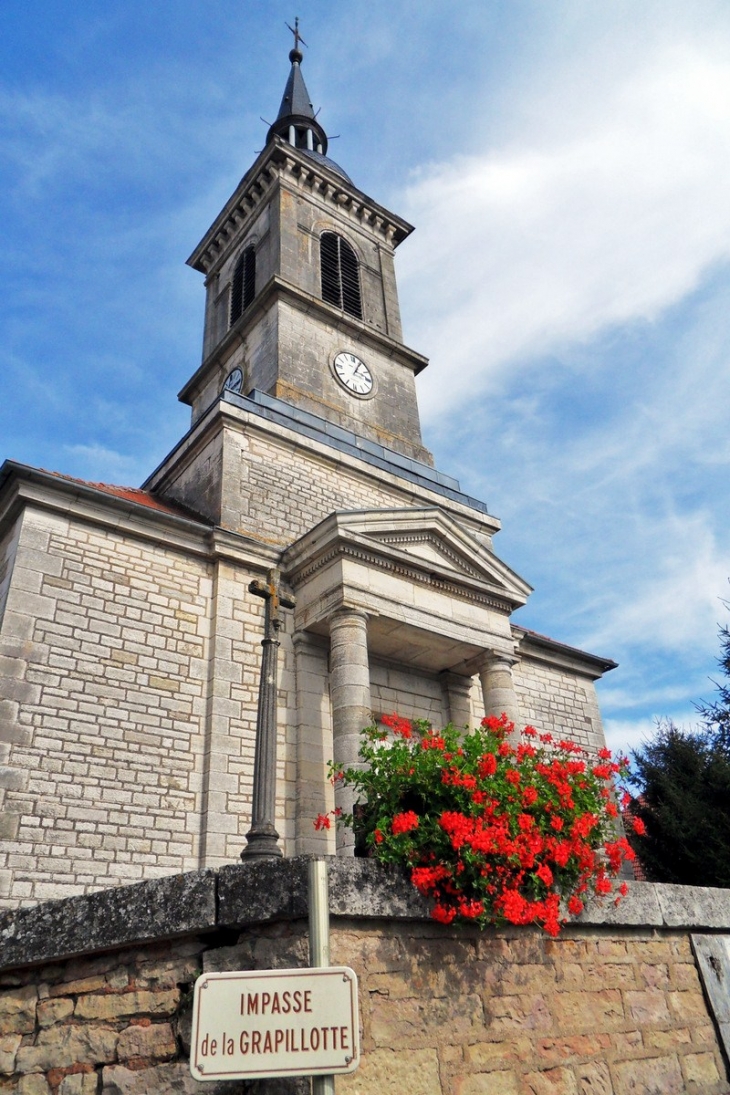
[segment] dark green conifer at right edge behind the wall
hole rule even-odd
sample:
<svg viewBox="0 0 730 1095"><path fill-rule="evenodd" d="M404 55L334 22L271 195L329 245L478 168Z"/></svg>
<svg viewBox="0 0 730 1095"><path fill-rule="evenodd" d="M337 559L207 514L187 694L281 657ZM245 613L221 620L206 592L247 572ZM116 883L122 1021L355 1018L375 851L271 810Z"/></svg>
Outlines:
<svg viewBox="0 0 730 1095"><path fill-rule="evenodd" d="M656 737L634 752L633 769L633 809L646 834L629 833L629 840L647 877L730 887L727 731L710 726L692 733L661 723Z"/></svg>

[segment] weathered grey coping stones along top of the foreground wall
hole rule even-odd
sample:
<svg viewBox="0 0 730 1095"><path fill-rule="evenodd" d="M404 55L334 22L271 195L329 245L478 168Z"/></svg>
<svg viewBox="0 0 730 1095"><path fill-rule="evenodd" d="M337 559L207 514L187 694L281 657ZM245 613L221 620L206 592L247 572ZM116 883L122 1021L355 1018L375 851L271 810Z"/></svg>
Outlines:
<svg viewBox="0 0 730 1095"><path fill-rule="evenodd" d="M0 970L184 935L308 915L311 855L231 864L97 890L0 913ZM374 860L326 856L334 918L430 919L430 903L407 872ZM730 890L629 883L617 906L590 904L581 927L730 931ZM517 929L518 931L520 929ZM444 929L454 931L454 929Z"/></svg>

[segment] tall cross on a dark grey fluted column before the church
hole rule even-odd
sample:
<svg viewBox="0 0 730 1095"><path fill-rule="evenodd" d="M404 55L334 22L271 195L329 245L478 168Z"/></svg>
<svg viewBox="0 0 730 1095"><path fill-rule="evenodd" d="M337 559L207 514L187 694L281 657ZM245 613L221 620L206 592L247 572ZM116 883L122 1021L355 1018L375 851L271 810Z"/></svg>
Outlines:
<svg viewBox="0 0 730 1095"><path fill-rule="evenodd" d="M293 597L281 593L279 572L269 570L266 581L252 581L248 591L263 597L266 603L266 623L262 639L262 672L258 684L258 714L256 717L256 751L254 754L254 794L251 809L251 829L242 860L269 858L281 855L279 833L274 825L276 816L276 724L277 724L277 661L281 609L293 609Z"/></svg>

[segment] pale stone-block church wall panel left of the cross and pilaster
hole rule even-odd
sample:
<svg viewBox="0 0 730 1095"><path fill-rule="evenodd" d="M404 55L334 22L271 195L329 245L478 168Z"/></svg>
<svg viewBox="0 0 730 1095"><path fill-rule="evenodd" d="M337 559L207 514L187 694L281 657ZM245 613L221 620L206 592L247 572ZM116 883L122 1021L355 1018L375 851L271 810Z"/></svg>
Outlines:
<svg viewBox="0 0 730 1095"><path fill-rule="evenodd" d="M25 511L2 624L0 897L198 863L207 564Z"/></svg>

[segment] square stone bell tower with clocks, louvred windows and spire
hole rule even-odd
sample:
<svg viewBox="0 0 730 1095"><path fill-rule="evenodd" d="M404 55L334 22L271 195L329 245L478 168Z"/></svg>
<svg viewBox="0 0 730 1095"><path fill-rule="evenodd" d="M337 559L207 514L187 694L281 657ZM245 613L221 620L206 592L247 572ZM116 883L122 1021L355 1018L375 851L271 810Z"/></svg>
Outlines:
<svg viewBox="0 0 730 1095"><path fill-rule="evenodd" d="M293 33L266 145L188 258L206 321L179 399L195 425L223 392L260 393L432 465L415 389L428 361L403 343L394 269L413 228L328 157Z"/></svg>

